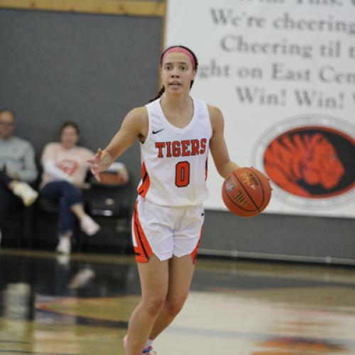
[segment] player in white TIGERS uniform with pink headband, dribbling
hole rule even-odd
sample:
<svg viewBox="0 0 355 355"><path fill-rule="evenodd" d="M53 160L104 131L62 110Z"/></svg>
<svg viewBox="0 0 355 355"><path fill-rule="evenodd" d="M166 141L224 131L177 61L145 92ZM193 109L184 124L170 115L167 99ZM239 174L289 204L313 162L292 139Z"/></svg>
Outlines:
<svg viewBox="0 0 355 355"><path fill-rule="evenodd" d="M107 170L138 138L142 179L133 212L132 239L141 280L141 302L129 320L128 355L155 354L153 339L182 309L190 289L208 196L207 158L223 178L239 168L224 141L217 107L190 97L197 58L183 46L160 57L163 88L151 103L133 109L107 148L88 160L92 173Z"/></svg>

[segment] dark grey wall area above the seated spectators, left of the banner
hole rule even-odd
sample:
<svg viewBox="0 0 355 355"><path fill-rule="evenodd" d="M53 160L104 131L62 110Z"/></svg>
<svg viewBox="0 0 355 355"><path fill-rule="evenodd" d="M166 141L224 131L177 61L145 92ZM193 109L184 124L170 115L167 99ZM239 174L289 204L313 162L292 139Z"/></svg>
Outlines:
<svg viewBox="0 0 355 355"><path fill-rule="evenodd" d="M158 90L161 18L1 9L0 23L1 108L38 158L67 120L82 146L104 148ZM121 161L139 177L138 144Z"/></svg>

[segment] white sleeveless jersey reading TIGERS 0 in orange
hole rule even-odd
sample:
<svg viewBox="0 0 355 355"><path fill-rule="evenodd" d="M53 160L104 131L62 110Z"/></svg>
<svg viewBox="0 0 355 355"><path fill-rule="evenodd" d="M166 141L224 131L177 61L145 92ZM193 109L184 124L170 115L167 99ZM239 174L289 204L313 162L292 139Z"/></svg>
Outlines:
<svg viewBox="0 0 355 355"><path fill-rule="evenodd" d="M207 104L193 99L194 115L180 129L170 124L160 99L147 104L149 131L141 143L138 194L161 206L195 206L208 197L207 158L212 126Z"/></svg>

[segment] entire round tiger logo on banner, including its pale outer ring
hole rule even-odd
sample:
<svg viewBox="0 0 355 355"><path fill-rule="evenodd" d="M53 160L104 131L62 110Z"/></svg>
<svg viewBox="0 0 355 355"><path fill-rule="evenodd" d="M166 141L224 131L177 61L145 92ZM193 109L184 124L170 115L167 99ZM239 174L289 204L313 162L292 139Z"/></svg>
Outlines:
<svg viewBox="0 0 355 355"><path fill-rule="evenodd" d="M340 119L304 115L280 121L256 143L253 163L292 204L326 207L354 197L355 127Z"/></svg>

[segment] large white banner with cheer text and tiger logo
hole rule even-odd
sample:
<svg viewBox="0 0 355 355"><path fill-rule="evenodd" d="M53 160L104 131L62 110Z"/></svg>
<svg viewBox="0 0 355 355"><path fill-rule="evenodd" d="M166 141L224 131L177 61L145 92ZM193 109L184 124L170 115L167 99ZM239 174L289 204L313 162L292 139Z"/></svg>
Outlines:
<svg viewBox="0 0 355 355"><path fill-rule="evenodd" d="M355 0L169 0L179 44L231 159L271 178L266 212L355 217ZM225 209L222 182L210 159L205 207Z"/></svg>

